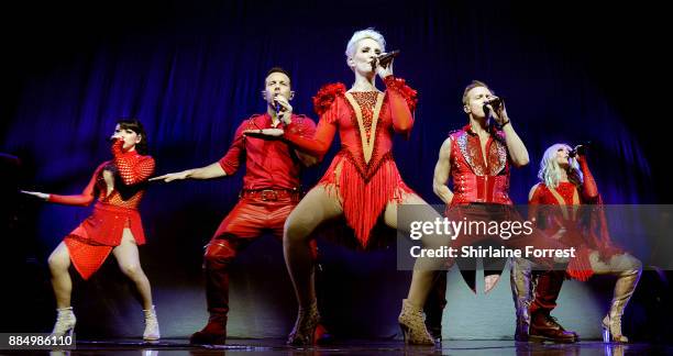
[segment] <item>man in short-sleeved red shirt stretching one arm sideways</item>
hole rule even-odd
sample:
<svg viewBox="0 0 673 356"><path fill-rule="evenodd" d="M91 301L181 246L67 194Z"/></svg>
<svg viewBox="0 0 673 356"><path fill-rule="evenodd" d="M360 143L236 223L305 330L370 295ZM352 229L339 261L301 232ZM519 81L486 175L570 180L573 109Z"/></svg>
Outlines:
<svg viewBox="0 0 673 356"><path fill-rule="evenodd" d="M202 168L154 177L151 180L211 179L228 177L245 164L243 191L233 210L220 223L203 256L206 269L206 297L210 318L208 324L191 335L192 344L224 344L227 341L227 314L229 312L229 270L234 258L265 231L283 237L283 226L288 214L299 202L301 191L299 176L302 166L317 163L311 155L298 152L282 140L254 137L260 131L284 127L297 136L311 137L316 124L306 115L293 113L289 103L295 96L289 74L279 67L272 68L265 78L262 96L266 112L244 120L236 130L231 147L219 160ZM252 130L251 134L245 134ZM310 268L317 257L316 244L311 245ZM323 329L320 327L323 332Z"/></svg>

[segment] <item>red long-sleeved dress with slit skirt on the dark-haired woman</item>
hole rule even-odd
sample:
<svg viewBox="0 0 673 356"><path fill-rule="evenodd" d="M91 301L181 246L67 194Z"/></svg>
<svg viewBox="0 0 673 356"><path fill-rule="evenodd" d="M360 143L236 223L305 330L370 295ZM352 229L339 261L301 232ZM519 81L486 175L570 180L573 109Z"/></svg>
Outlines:
<svg viewBox="0 0 673 356"><path fill-rule="evenodd" d="M64 240L70 260L84 279L91 277L112 248L119 246L125 227L131 230L137 245L145 243L137 205L155 163L151 156L135 151L123 152L122 145L122 141L112 145L113 159L98 166L80 194L49 194L48 198L55 203L88 207L98 194L93 213ZM106 177L114 183L109 187Z"/></svg>

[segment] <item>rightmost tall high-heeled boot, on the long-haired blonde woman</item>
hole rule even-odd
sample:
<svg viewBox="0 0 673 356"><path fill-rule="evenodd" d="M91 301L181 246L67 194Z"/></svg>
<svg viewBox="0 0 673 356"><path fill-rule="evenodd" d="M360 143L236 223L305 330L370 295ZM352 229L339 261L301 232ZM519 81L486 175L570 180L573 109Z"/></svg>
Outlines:
<svg viewBox="0 0 673 356"><path fill-rule="evenodd" d="M603 319L603 341L606 343L628 343L629 338L621 334L621 315L624 310L633 296L642 268L624 270L619 274L615 285L615 294L610 304L610 310Z"/></svg>

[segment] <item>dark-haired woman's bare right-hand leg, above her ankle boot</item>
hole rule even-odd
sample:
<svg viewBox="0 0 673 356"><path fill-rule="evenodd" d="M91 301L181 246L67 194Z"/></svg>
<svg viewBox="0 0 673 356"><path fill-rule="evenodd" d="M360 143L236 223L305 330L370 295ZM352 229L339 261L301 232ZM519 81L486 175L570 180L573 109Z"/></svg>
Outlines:
<svg viewBox="0 0 673 356"><path fill-rule="evenodd" d="M137 245L135 244L135 238L133 238L133 234L131 233L130 229L124 229L122 241L119 246L112 249L112 254L114 255L114 258L117 258L117 263L119 264L121 271L135 283L135 288L137 288L141 296L143 309L151 310L152 288L150 287L147 276L145 276L145 272L141 267L137 255Z"/></svg>

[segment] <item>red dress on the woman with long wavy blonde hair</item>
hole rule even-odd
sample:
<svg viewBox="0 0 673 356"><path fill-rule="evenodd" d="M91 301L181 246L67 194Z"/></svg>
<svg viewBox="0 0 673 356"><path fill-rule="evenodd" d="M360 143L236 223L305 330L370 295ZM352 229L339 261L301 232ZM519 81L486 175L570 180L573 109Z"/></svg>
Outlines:
<svg viewBox="0 0 673 356"><path fill-rule="evenodd" d="M598 251L603 260L624 252L611 243L603 200L586 160L578 159L578 163L584 176L582 189L570 181L562 181L556 188L539 183L529 201L529 216L542 219L537 225L549 236L561 231L560 242L576 248L566 271L570 277L585 281L594 275L589 262L592 252ZM581 205L584 208L580 209Z"/></svg>

